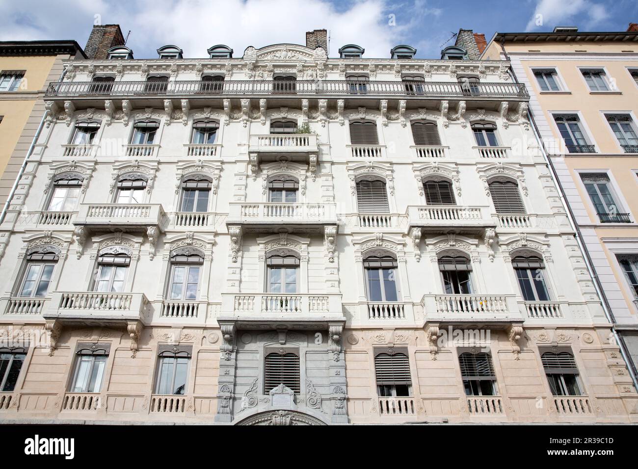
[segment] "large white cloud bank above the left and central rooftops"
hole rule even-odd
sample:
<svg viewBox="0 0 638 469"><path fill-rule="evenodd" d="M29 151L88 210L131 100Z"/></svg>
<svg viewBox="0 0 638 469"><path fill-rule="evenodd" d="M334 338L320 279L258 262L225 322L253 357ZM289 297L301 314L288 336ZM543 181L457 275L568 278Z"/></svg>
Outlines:
<svg viewBox="0 0 638 469"><path fill-rule="evenodd" d="M127 45L138 58L154 57L165 44L178 45L186 57L205 57L206 49L218 43L241 57L249 45L305 44L306 31L320 28L329 29L330 56L342 45L357 43L366 57L387 57L425 16L441 14L416 0L410 14L397 14L396 26L390 26L393 6L388 0L357 0L345 8L327 0L22 0L0 5L0 40L75 38L84 47L94 15L100 15L104 24L120 24L125 35L131 31ZM403 18L408 19L404 24Z"/></svg>

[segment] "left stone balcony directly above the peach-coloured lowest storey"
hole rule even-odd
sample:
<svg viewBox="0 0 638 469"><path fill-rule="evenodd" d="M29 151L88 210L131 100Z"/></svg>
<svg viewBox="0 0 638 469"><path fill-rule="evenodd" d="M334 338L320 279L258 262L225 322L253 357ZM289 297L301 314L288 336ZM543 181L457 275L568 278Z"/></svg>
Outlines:
<svg viewBox="0 0 638 469"><path fill-rule="evenodd" d="M118 326L147 322L148 300L142 293L54 292L42 313L63 325Z"/></svg>

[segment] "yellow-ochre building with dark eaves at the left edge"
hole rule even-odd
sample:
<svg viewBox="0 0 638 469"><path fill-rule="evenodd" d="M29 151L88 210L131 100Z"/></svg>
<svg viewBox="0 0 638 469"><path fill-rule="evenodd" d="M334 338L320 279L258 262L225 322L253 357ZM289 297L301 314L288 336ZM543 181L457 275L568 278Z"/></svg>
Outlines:
<svg viewBox="0 0 638 469"><path fill-rule="evenodd" d="M86 58L75 41L0 41L0 206L44 116L47 86L73 58Z"/></svg>

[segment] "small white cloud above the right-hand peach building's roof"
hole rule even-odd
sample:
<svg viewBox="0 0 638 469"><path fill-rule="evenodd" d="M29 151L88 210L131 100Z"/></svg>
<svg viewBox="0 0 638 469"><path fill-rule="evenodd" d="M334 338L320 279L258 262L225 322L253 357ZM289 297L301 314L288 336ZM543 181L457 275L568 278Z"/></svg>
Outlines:
<svg viewBox="0 0 638 469"><path fill-rule="evenodd" d="M584 26L589 29L608 19L609 13L605 6L590 0L539 0L525 31L542 26L574 26L565 22L575 17L586 19Z"/></svg>

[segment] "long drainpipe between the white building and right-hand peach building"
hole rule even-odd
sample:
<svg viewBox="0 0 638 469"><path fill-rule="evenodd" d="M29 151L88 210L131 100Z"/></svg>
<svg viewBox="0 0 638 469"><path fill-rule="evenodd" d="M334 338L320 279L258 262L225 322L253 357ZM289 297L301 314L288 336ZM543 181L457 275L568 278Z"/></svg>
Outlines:
<svg viewBox="0 0 638 469"><path fill-rule="evenodd" d="M510 59L509 59L509 56L507 55L507 52L505 51L505 43L503 38L501 38L500 46L501 46L501 50L503 50L503 55L505 56L505 59L509 61ZM516 77L516 73L514 73L514 71L512 70L511 65L510 65L510 69L508 70L508 73L510 77L512 77L514 82L516 82L517 84L520 84L518 78ZM538 131L538 126L534 119L534 115L531 112L531 109L528 109L528 115L530 117L531 127L534 130L534 135L536 139L538 140L538 142L540 143L540 149L541 149L541 153L543 154L545 163L547 163L547 167L549 168L552 174L552 177L554 178L554 184L556 184L558 188L558 194L561 200L561 204L563 205L563 208L565 209L565 212L567 213L567 219L569 220L572 230L574 230L575 232L574 239L576 240L578 247L581 249L581 253L583 254L587 271L589 272L591 278L594 281L594 288L596 290L596 293L598 297L602 300L601 302L602 309L605 313L605 317L612 324L611 331L612 331L612 334L614 334L614 340L618 344L618 348L620 349L620 353L623 356L623 360L625 360L625 364L627 364L629 375L631 376L632 382L634 383L634 389L638 389L638 380L636 378L636 375L638 373L636 369L634 368L633 362L630 360L628 356L627 345L625 345L625 341L622 339L621 336L619 336L618 332L616 332L616 328L614 327L614 325L617 324L616 318L614 317L614 313L612 313L611 311L611 306L609 306L609 300L607 299L607 295L605 295L605 291L602 288L602 285L600 283L600 278L598 278L596 269L593 267L590 253L587 250L584 244L584 241L582 241L581 228L578 226L578 223L576 223L574 212L572 212L572 207L570 207L570 205L567 203L567 200L565 198L565 191L563 190L563 185L561 184L560 179L558 179L558 173L556 172L556 168L554 167L553 161L551 160L551 158L549 158L549 153L547 153L547 149L545 148L545 142L543 141L542 138L540 138L540 131Z"/></svg>

